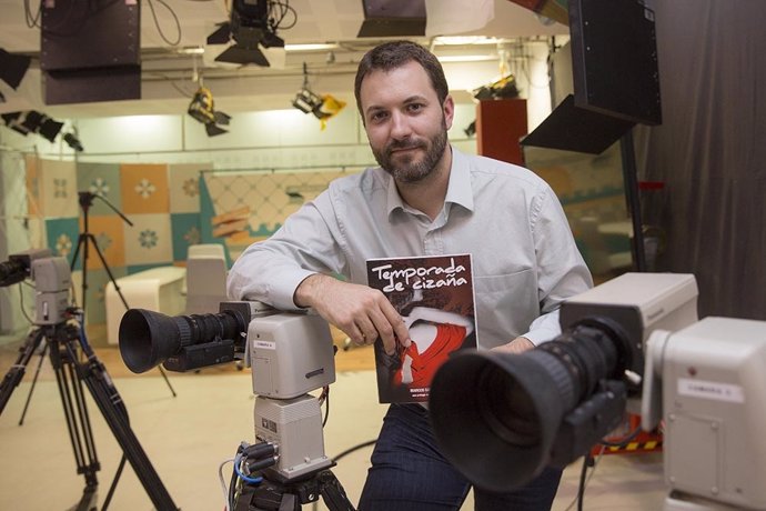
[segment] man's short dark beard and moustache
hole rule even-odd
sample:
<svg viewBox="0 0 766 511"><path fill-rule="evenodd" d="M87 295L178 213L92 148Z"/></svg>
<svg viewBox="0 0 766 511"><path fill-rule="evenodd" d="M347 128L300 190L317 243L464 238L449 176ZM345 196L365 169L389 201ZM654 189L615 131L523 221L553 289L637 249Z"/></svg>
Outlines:
<svg viewBox="0 0 766 511"><path fill-rule="evenodd" d="M427 176L431 176L436 164L444 156L444 149L446 148L447 133L446 126L442 121L442 130L436 133L431 140L404 140L404 141L393 141L389 143L382 151L375 149L372 150L373 156L377 164L389 172L399 182L414 183L422 181ZM417 162L413 161L412 156L406 156L400 158L403 160L402 163L394 163L394 159L391 157L391 151L404 148L421 148L425 150L425 156Z"/></svg>

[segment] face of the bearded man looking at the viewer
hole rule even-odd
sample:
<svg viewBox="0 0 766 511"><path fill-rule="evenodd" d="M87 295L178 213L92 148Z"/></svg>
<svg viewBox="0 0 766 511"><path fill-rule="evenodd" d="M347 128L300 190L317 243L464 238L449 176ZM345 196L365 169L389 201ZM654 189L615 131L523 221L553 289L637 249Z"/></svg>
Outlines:
<svg viewBox="0 0 766 511"><path fill-rule="evenodd" d="M407 62L367 74L360 89L362 116L377 163L399 182L431 174L444 156L454 106L439 102L425 70Z"/></svg>

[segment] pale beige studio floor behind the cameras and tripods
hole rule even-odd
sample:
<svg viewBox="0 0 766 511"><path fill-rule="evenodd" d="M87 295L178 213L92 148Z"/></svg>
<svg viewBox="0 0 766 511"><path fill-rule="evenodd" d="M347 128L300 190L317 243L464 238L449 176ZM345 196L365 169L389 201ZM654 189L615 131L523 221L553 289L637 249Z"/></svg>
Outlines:
<svg viewBox="0 0 766 511"><path fill-rule="evenodd" d="M17 360L18 348L18 342L0 347L0 375L6 375ZM142 375L130 373L115 348L97 348L95 353L113 379L128 409L132 431L174 504L187 511L224 509L219 467L233 458L240 442L254 441L250 371L226 364L199 373L165 373L165 381L157 369ZM40 360L39 378L30 393ZM77 473L50 365L48 358L36 355L30 360L24 380L13 390L0 417L0 510L69 510L81 498L84 479ZM385 412L385 405L377 403L370 348L339 351L336 370L324 428L325 452L331 458L374 440ZM20 425L28 398L29 408ZM87 398L100 461L101 508L122 450L90 394ZM364 483L371 450L354 450L333 469L354 504ZM554 510L576 509L581 464L577 460L565 470ZM230 462L223 465L226 483L231 469ZM599 459L587 482L584 509L658 510L665 493L659 453L608 454ZM109 509L154 509L130 464L122 472ZM304 509L327 508L320 503ZM471 495L462 509L473 509Z"/></svg>

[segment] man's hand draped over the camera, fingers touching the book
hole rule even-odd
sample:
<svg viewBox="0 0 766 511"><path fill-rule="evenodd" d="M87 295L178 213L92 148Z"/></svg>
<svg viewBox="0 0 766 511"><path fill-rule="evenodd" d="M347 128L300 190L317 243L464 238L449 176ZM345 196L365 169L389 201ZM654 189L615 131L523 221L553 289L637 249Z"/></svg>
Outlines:
<svg viewBox="0 0 766 511"><path fill-rule="evenodd" d="M299 307L314 309L356 344L372 344L380 335L385 352L393 354L397 339L403 345L410 343L404 320L376 289L315 273L298 285L293 299Z"/></svg>

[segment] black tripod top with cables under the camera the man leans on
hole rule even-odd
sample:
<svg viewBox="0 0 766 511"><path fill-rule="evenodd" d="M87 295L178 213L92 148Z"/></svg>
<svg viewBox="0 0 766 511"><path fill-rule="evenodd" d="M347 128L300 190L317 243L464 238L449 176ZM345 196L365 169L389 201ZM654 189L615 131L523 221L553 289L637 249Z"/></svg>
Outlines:
<svg viewBox="0 0 766 511"><path fill-rule="evenodd" d="M258 485L245 485L233 511L299 511L320 497L330 511L355 511L335 474L322 469L299 481L280 482L264 475Z"/></svg>

